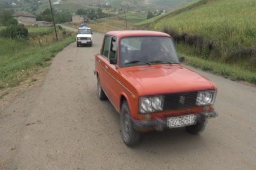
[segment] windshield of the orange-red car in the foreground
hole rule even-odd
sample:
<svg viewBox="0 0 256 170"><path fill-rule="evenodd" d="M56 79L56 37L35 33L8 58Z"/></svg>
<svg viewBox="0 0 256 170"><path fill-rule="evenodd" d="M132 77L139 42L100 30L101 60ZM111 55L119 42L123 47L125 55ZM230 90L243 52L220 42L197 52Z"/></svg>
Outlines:
<svg viewBox="0 0 256 170"><path fill-rule="evenodd" d="M169 37L127 37L120 42L121 66L179 63Z"/></svg>

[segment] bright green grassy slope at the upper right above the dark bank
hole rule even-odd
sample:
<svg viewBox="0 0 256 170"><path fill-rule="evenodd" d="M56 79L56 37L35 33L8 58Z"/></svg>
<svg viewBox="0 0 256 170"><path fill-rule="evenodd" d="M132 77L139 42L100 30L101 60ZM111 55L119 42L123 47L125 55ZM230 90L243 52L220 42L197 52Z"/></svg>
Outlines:
<svg viewBox="0 0 256 170"><path fill-rule="evenodd" d="M255 9L255 0L208 0L206 5L159 20L151 28L170 26L224 45L250 46L256 44Z"/></svg>

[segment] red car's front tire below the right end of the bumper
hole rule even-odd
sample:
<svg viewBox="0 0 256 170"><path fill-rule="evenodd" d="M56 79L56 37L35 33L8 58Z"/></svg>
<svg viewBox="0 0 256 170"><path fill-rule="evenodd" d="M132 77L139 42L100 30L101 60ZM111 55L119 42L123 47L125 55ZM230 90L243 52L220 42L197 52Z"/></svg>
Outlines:
<svg viewBox="0 0 256 170"><path fill-rule="evenodd" d="M206 118L204 115L201 115L198 119L198 123L195 125L186 126L186 130L189 133L196 135L204 131L205 125L206 125Z"/></svg>

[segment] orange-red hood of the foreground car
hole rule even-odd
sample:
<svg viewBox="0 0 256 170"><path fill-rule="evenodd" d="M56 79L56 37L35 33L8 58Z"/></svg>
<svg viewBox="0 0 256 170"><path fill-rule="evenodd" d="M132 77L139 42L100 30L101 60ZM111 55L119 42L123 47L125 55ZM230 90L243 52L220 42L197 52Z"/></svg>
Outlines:
<svg viewBox="0 0 256 170"><path fill-rule="evenodd" d="M140 84L140 95L215 89L209 79L181 65L124 68L123 74L131 84Z"/></svg>

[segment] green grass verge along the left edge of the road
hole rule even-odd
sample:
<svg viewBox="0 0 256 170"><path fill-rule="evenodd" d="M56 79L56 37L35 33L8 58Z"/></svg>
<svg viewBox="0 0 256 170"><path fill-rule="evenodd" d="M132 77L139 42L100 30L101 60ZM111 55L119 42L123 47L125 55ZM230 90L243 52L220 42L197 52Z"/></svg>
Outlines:
<svg viewBox="0 0 256 170"><path fill-rule="evenodd" d="M0 40L9 43L13 40ZM38 67L45 67L49 65L49 60L61 51L66 45L73 42L75 37L68 37L60 42L56 42L44 48L26 48L18 53L12 55L12 50L8 54L0 56L0 89L7 87L15 87L19 83L33 74ZM21 46L23 42L16 42L15 47Z"/></svg>

